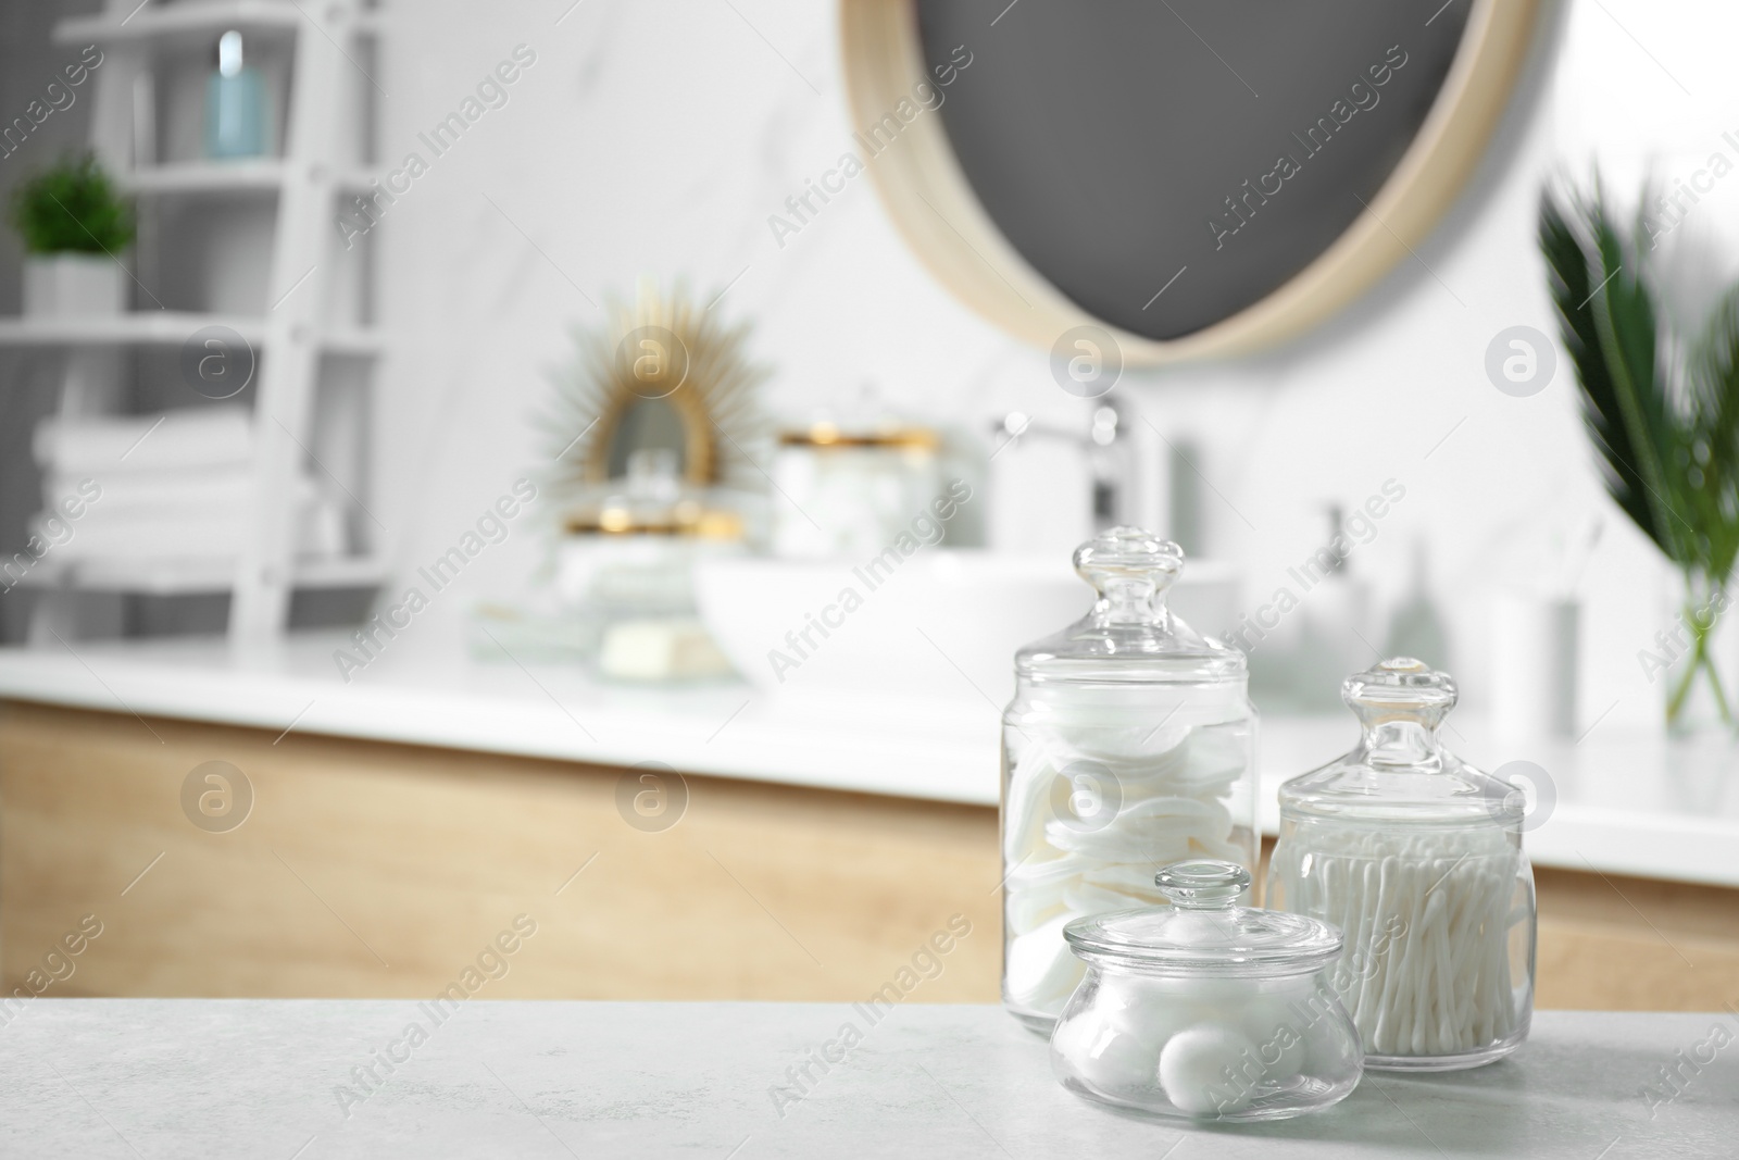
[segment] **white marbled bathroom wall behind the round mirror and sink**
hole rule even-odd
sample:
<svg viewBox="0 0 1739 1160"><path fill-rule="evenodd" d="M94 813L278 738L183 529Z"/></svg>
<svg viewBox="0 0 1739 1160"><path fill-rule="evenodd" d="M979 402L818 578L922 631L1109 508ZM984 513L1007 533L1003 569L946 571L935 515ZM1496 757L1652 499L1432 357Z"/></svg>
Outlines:
<svg viewBox="0 0 1739 1160"><path fill-rule="evenodd" d="M49 31L75 7L5 5L7 110L50 80ZM603 296L631 296L643 275L683 278L703 301L722 294L718 308L753 322L753 355L772 370L765 405L783 423L838 412L870 388L904 421L946 433L984 496L955 543L1066 557L1092 527L1087 440L1099 402L1057 390L1043 351L1003 337L929 278L868 181L800 233L769 228L850 144L830 5L753 5L753 26L729 5L562 7L447 5L440 19L398 21L383 49L391 97L376 94L377 151L388 162L419 148L417 134L515 45L536 54L506 104L435 160L370 237L374 303L391 336L374 383L367 503L398 577L386 591L539 463L530 416L550 369L570 358L570 327L600 323ZM1440 640L1429 659L1464 677L1469 708L1489 708L1497 595L1572 584L1584 631L1579 718L1659 718L1636 652L1650 647L1673 577L1612 518L1569 369L1532 398L1499 393L1482 370L1506 327L1555 330L1534 254L1542 179L1586 176L1598 144L1612 188L1633 190L1647 172L1669 181L1732 129L1715 113L1729 103L1689 97L1675 75L1722 83L1727 73L1704 57L1739 17L1709 3L1612 7L1555 16L1562 42L1534 49L1553 66L1529 68L1471 188L1379 290L1271 353L1130 369L1115 391L1118 438L1134 457L1127 511L1193 557L1235 567L1249 612L1297 588L1287 570L1330 541L1336 508L1356 513L1391 480L1405 489L1381 520L1353 520L1356 550L1334 581L1351 595L1304 602L1254 649L1271 696L1294 682L1264 650L1296 647L1313 616L1351 617L1377 652L1419 649L1421 633ZM37 125L0 163L0 193L82 148L92 108L87 89ZM1718 203L1692 226L1722 240L1732 197L1718 186L1708 195ZM249 245L245 223L230 237ZM0 233L0 313L19 310L19 263L16 237ZM40 506L30 440L57 379L40 351L0 350L0 546L10 555ZM989 459L1009 412L1080 442L1028 437ZM1593 520L1603 532L1586 551ZM459 583L476 600L513 597L546 551L537 537L510 537ZM24 640L30 600L0 602L5 640ZM181 617L209 631L223 626L212 607L223 600L136 623L172 630ZM463 626L421 635L440 631ZM1365 656L1336 656L1329 673L1348 659Z"/></svg>

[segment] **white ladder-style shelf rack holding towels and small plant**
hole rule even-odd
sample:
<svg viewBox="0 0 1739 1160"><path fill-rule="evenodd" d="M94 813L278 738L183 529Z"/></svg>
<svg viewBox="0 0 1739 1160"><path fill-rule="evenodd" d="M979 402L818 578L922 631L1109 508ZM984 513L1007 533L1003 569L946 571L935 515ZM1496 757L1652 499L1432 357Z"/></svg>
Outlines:
<svg viewBox="0 0 1739 1160"><path fill-rule="evenodd" d="M268 92L268 155L203 157L210 54L238 30ZM59 43L104 45L92 73L90 144L139 203L129 268L141 306L120 315L0 318L0 348L64 360L61 421L170 409L172 355L205 327L226 327L256 355L242 397L254 464L249 534L237 555L117 557L31 569L31 640L120 631L125 595L230 593L230 637L266 642L287 628L290 595L384 583L384 546L367 511L369 398L383 343L369 327L365 256L337 245L337 200L365 193L374 83L358 61L379 35L369 0L106 0L64 19ZM151 301L148 301L151 299ZM157 351L129 358L130 351ZM167 370L165 370L167 369ZM163 376L169 376L163 379ZM153 377L155 376L155 377ZM130 384L130 386L129 386ZM163 391L169 391L163 395ZM155 402L144 402L155 400ZM188 397L188 403L198 400ZM313 461L313 463L310 463ZM350 497L341 555L297 555L303 478L325 471Z"/></svg>

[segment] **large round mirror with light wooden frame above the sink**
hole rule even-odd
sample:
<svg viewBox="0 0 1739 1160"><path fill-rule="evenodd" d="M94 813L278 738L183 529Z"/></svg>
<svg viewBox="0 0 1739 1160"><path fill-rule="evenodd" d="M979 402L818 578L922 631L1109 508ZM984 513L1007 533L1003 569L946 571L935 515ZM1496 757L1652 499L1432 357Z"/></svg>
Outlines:
<svg viewBox="0 0 1739 1160"><path fill-rule="evenodd" d="M1054 348L1235 355L1349 303L1476 165L1537 0L843 0L857 144L932 273Z"/></svg>

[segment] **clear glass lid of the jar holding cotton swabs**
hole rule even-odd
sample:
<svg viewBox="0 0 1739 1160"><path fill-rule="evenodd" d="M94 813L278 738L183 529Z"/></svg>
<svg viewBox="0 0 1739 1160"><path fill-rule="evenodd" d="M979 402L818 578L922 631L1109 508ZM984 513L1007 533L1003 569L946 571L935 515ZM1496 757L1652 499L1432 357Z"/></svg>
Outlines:
<svg viewBox="0 0 1739 1160"><path fill-rule="evenodd" d="M1348 677L1341 699L1363 736L1346 755L1280 786L1285 814L1452 826L1522 823L1522 790L1468 765L1438 739L1456 708L1449 673L1393 657Z"/></svg>

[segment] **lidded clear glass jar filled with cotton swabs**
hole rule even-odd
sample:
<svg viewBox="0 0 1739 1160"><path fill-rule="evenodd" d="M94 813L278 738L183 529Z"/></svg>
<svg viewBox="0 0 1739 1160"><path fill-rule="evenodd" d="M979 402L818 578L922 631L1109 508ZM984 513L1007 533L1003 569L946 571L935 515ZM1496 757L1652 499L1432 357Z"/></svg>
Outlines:
<svg viewBox="0 0 1739 1160"><path fill-rule="evenodd" d="M1450 1071L1508 1056L1534 1014L1523 795L1443 748L1449 675L1383 661L1341 697L1363 739L1280 788L1268 904L1346 934L1336 983L1369 1066Z"/></svg>

